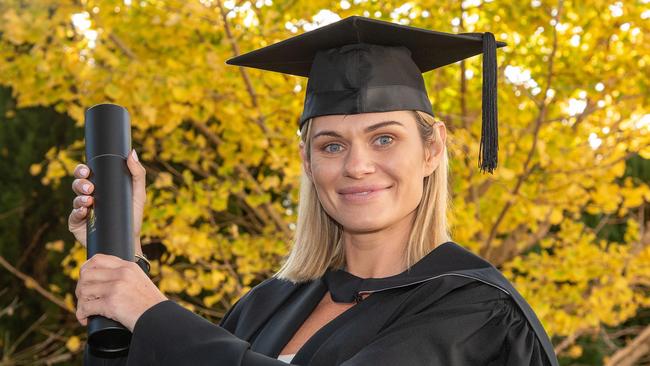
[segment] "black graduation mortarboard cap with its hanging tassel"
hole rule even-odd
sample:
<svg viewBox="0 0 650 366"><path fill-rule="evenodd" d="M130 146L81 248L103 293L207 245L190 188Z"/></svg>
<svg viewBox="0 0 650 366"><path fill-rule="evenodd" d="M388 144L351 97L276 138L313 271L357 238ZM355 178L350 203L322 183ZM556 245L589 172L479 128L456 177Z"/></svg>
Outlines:
<svg viewBox="0 0 650 366"><path fill-rule="evenodd" d="M433 116L422 73L483 53L479 167L497 166L496 49L492 33L452 34L351 16L226 61L308 77L300 127L312 117L395 110Z"/></svg>

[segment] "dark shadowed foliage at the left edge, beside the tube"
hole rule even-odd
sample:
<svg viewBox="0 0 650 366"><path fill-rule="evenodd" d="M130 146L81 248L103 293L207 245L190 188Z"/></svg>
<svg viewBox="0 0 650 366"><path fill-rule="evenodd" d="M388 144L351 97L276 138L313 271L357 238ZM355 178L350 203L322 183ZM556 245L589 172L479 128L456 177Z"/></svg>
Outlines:
<svg viewBox="0 0 650 366"><path fill-rule="evenodd" d="M74 318L74 283L61 271L70 184L43 184L37 162L83 131L51 108L16 110L7 88L0 116L0 364L71 360L85 331Z"/></svg>

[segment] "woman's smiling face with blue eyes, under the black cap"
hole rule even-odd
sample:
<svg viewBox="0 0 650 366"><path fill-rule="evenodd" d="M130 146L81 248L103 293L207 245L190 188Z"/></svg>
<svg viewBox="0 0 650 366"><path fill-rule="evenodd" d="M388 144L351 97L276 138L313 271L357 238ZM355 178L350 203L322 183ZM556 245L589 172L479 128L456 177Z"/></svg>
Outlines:
<svg viewBox="0 0 650 366"><path fill-rule="evenodd" d="M350 233L410 223L442 156L445 128L435 128L438 143L422 141L408 111L315 118L301 156L325 211Z"/></svg>

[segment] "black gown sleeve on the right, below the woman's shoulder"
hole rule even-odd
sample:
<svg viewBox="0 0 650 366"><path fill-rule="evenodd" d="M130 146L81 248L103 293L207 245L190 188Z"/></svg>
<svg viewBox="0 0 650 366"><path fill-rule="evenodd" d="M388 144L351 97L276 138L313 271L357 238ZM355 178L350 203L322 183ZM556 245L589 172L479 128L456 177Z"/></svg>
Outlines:
<svg viewBox="0 0 650 366"><path fill-rule="evenodd" d="M555 355L546 355L535 330L508 295L459 300L403 317L341 366L557 365Z"/></svg>

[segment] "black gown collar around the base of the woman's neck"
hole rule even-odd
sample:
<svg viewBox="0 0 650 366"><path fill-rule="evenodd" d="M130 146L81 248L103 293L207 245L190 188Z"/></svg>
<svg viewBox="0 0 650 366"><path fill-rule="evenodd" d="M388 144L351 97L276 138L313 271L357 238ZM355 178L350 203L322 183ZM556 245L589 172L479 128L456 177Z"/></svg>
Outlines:
<svg viewBox="0 0 650 366"><path fill-rule="evenodd" d="M361 278L343 269L328 269L323 275L332 300L360 302L362 294L384 291L428 281L449 272L480 269L492 265L453 241L438 245L402 273L381 278Z"/></svg>

